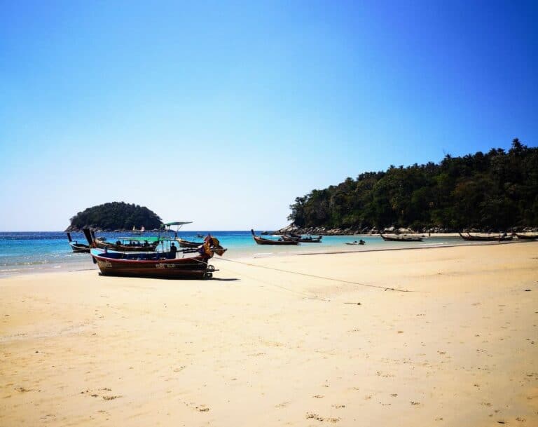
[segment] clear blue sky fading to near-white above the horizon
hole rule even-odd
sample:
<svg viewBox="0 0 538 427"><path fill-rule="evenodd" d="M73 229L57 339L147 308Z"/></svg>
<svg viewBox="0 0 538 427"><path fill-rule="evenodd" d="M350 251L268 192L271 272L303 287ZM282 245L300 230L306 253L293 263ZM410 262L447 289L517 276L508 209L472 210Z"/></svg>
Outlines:
<svg viewBox="0 0 538 427"><path fill-rule="evenodd" d="M536 147L537 22L537 1L0 0L0 231L108 201L275 229L361 172Z"/></svg>

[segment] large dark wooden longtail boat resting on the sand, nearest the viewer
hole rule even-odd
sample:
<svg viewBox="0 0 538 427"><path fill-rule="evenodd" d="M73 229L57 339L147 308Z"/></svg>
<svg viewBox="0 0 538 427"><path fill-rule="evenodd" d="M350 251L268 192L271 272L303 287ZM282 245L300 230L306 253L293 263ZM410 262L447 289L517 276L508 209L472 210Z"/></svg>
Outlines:
<svg viewBox="0 0 538 427"><path fill-rule="evenodd" d="M212 278L216 271L209 264L216 253L223 255L226 249L219 240L207 236L205 243L199 249L185 249L178 251L174 246L173 239L164 238L161 241L171 241L170 250L163 252L101 252L92 249L93 262L99 266L103 276L129 276L145 278L170 278L170 279L208 279ZM177 257L178 254L183 257ZM195 254L185 257L185 254Z"/></svg>

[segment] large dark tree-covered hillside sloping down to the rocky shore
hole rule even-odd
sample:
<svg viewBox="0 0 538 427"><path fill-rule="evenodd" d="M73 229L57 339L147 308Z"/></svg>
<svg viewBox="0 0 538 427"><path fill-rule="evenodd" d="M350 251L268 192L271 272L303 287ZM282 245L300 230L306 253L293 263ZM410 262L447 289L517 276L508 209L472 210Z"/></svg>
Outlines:
<svg viewBox="0 0 538 427"><path fill-rule="evenodd" d="M538 225L538 148L516 138L508 152L390 166L295 199L288 219L299 227L405 226L415 230L509 229Z"/></svg>

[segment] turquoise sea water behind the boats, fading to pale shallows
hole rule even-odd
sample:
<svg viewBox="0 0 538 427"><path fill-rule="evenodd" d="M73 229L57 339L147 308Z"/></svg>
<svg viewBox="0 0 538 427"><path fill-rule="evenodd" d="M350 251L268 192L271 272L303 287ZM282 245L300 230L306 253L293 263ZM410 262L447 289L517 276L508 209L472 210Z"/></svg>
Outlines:
<svg viewBox="0 0 538 427"><path fill-rule="evenodd" d="M98 233L109 241L128 233ZM207 231L181 231L179 236L186 240L202 240L197 234L207 235ZM256 245L250 231L211 231L219 238L221 245L228 248L225 258L273 257L279 255L300 255L312 252L352 252L394 248L417 248L443 245L468 244L461 238L430 237L422 242L385 242L380 236L324 236L322 243L301 243L300 245L272 246ZM256 234L260 234L257 231ZM73 240L86 243L82 233L71 233ZM144 236L156 236L146 232ZM271 236L263 236L272 238ZM345 242L366 241L365 245L345 245ZM61 231L50 232L0 232L0 278L19 273L46 271L74 271L96 269L89 254L74 253L67 243L67 235Z"/></svg>

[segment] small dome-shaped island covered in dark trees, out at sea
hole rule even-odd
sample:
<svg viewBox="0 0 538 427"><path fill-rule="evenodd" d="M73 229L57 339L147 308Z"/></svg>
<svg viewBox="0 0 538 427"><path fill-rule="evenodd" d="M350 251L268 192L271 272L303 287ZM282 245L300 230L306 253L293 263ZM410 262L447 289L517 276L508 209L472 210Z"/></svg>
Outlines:
<svg viewBox="0 0 538 427"><path fill-rule="evenodd" d="M112 202L93 206L83 212L78 212L71 218L69 229L80 230L87 226L102 230L158 229L163 224L160 217L144 206L130 203Z"/></svg>

